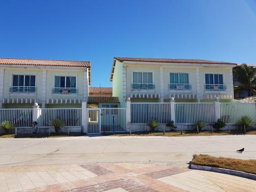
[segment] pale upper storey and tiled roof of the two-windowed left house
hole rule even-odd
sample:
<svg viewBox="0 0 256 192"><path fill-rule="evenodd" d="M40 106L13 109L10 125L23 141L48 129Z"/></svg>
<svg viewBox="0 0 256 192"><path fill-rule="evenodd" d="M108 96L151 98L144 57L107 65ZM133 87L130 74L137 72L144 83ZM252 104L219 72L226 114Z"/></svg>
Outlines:
<svg viewBox="0 0 256 192"><path fill-rule="evenodd" d="M0 58L0 108L80 107L90 83L90 61Z"/></svg>

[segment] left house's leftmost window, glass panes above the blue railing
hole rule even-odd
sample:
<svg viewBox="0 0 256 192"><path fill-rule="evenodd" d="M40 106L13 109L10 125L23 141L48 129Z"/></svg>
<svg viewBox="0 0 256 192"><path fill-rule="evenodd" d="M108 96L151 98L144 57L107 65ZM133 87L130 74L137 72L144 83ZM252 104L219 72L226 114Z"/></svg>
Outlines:
<svg viewBox="0 0 256 192"><path fill-rule="evenodd" d="M13 75L13 87L35 87L35 75Z"/></svg>

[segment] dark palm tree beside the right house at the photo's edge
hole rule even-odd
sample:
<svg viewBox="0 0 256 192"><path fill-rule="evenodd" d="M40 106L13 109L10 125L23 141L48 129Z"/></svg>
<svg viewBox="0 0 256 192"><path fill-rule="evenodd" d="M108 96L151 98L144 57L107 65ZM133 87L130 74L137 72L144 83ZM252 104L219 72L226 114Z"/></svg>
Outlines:
<svg viewBox="0 0 256 192"><path fill-rule="evenodd" d="M234 78L241 83L242 89L248 92L248 97L252 96L256 88L256 68L244 63L234 68Z"/></svg>

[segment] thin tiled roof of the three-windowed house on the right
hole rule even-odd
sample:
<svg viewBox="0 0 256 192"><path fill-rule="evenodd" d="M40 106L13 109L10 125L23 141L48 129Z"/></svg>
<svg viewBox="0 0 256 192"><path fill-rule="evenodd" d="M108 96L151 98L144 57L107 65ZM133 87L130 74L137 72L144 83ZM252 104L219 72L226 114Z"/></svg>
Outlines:
<svg viewBox="0 0 256 192"><path fill-rule="evenodd" d="M163 62L163 63L196 63L196 64L223 64L223 65L237 65L237 63L212 61L203 59L172 59L172 58L140 58L140 57L114 57L114 62L111 70L110 80L113 80L116 60L123 61L137 61L137 62Z"/></svg>

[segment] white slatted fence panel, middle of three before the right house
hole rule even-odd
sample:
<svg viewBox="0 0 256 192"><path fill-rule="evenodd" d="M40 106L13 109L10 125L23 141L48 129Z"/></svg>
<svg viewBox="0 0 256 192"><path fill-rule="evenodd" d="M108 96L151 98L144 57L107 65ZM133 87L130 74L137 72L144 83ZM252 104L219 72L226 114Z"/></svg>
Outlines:
<svg viewBox="0 0 256 192"><path fill-rule="evenodd" d="M214 123L214 103L175 103L175 118L178 124Z"/></svg>

